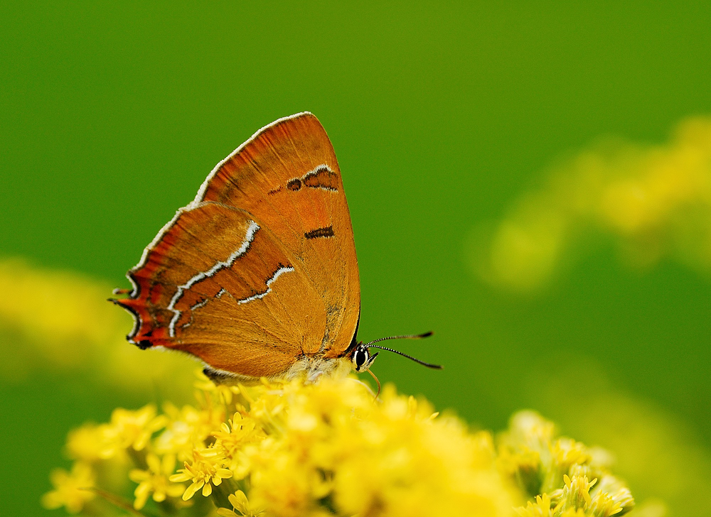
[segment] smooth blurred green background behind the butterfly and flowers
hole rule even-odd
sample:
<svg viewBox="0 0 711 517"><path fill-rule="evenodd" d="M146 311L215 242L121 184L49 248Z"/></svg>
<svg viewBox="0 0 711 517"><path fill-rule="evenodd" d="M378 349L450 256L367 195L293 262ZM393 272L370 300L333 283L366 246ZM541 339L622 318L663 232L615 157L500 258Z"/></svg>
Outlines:
<svg viewBox="0 0 711 517"><path fill-rule="evenodd" d="M638 499L708 514L693 495L711 494L709 276L629 268L599 239L514 293L481 281L471 250L560 156L604 135L664 143L710 114L709 20L708 4L648 2L3 2L0 258L127 287L215 163L312 111L351 207L361 339L434 330L399 347L446 366L381 354L380 379L484 428L540 410L612 449ZM10 365L31 347L20 327L0 324ZM158 397L86 368L13 371L0 459L21 481L0 494L4 515L41 512L70 428Z"/></svg>

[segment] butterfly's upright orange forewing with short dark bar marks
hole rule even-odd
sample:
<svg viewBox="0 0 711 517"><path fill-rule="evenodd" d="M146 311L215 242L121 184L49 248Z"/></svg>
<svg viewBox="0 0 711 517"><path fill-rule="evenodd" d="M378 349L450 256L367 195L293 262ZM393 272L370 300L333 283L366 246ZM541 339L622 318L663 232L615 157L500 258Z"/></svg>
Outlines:
<svg viewBox="0 0 711 517"><path fill-rule="evenodd" d="M301 113L261 129L225 158L196 202L240 207L292 251L324 300L324 357L348 348L360 315L353 227L336 153L319 119Z"/></svg>

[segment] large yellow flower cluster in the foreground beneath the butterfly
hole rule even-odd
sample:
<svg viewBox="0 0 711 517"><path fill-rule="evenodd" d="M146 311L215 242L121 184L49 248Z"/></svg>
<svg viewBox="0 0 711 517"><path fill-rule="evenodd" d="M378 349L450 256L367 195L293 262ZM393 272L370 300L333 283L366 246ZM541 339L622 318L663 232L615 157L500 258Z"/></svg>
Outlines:
<svg viewBox="0 0 711 517"><path fill-rule="evenodd" d="M45 506L141 513L152 499L145 515L496 517L528 499L523 517L607 517L634 504L594 452L533 413L513 418L497 450L489 432L392 386L376 400L350 377L198 386L198 407L117 409L72 432L75 467L53 474ZM133 501L122 499L127 479Z"/></svg>

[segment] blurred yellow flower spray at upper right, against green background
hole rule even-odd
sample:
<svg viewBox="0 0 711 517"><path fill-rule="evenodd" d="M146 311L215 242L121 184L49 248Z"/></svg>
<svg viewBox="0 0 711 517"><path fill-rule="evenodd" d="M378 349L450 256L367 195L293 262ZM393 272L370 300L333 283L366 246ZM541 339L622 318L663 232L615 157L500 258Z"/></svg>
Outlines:
<svg viewBox="0 0 711 517"><path fill-rule="evenodd" d="M711 271L711 119L683 121L663 145L607 141L565 160L475 243L474 263L493 285L535 290L599 235L635 266L670 256Z"/></svg>

